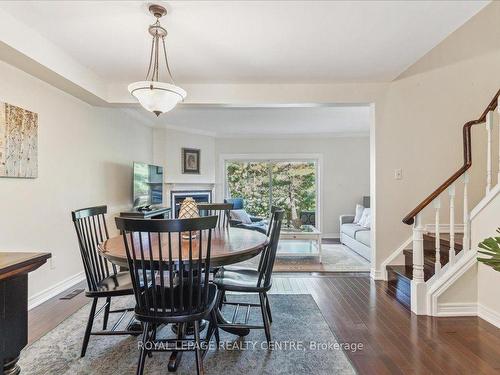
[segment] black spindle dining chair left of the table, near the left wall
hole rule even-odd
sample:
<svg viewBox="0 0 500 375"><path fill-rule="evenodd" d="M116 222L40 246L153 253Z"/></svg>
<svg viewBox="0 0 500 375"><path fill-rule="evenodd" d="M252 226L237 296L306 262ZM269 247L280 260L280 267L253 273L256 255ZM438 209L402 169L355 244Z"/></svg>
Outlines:
<svg viewBox="0 0 500 375"><path fill-rule="evenodd" d="M111 297L132 295L133 289L129 273L118 272L116 266L114 264L109 264L98 251L98 245L109 238L105 217L106 213L106 206L82 208L71 212L87 279L87 290L85 295L93 299L85 335L83 337L82 351L80 354L82 357L85 356L91 335L137 335L138 333L137 331L131 330L117 330L127 312L132 311L133 308L111 310ZM97 303L100 298L106 298L106 302L96 312ZM103 330L94 332L92 331L94 319L102 311L104 311ZM110 313L121 313L121 316L113 327L107 330Z"/></svg>

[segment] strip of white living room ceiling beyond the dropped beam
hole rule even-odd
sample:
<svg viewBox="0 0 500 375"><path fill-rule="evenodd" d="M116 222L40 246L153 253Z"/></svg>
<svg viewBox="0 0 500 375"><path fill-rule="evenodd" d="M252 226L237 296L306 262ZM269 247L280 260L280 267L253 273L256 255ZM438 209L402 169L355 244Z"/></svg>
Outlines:
<svg viewBox="0 0 500 375"><path fill-rule="evenodd" d="M137 116L143 115L144 110L137 111L140 111ZM367 136L370 108L367 105L274 108L179 106L161 115L154 124L217 137Z"/></svg>

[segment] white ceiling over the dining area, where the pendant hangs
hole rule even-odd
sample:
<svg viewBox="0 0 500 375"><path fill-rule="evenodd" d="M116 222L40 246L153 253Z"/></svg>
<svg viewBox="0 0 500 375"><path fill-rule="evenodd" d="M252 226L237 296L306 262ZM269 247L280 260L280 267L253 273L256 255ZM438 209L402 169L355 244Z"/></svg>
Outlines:
<svg viewBox="0 0 500 375"><path fill-rule="evenodd" d="M487 3L169 1L163 24L180 84L379 82L397 77ZM106 84L145 75L153 21L146 2L2 1L0 9Z"/></svg>

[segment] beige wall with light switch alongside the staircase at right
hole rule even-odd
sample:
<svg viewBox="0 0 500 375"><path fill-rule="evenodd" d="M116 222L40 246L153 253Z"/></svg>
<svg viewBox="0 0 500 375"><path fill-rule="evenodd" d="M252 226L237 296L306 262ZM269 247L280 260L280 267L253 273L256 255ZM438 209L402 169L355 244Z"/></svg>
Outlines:
<svg viewBox="0 0 500 375"><path fill-rule="evenodd" d="M393 82L383 105L378 103L382 113L376 124L377 264L409 234L398 219L461 165L462 125L478 118L500 88L499 23L500 3L493 2ZM496 126L494 131L495 184ZM475 128L473 139L470 207L484 195L484 127ZM396 165L408 171L399 184L390 179ZM500 211L495 207L484 213L488 215L484 225L478 224L483 219L475 221L472 246L500 226ZM468 282L476 279L471 277L475 270L467 272L440 301L469 302L477 295L479 306L500 314L498 299L491 298L497 293L500 273L479 265L475 291ZM461 285L467 285L467 290Z"/></svg>

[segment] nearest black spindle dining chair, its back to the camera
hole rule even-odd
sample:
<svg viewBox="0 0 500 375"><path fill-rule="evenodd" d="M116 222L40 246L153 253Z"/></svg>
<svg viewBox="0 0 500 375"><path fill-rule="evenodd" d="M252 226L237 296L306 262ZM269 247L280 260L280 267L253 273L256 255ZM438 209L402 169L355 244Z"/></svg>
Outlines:
<svg viewBox="0 0 500 375"><path fill-rule="evenodd" d="M143 373L146 356L155 351L194 351L197 373L203 374L206 350L202 350L200 341L202 319L210 319L206 344L213 333L218 339L214 310L217 287L209 282L212 230L217 216L115 220L127 253L136 300L135 316L143 323L137 374ZM168 323L178 325L177 339L157 339L157 327ZM185 338L188 323L194 323L194 342ZM185 342L191 345L179 346Z"/></svg>

